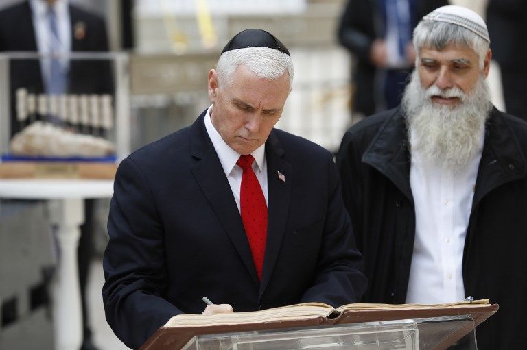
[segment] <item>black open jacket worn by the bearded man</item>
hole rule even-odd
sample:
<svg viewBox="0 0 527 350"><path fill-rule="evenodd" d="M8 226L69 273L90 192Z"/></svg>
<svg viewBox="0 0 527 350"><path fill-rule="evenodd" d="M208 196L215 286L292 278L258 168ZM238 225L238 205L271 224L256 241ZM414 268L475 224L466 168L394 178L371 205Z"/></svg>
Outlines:
<svg viewBox="0 0 527 350"><path fill-rule="evenodd" d="M337 165L368 290L363 301L404 303L415 214L404 117L389 110L351 127ZM527 123L493 109L465 240L465 294L500 310L477 328L479 349L522 349L527 333Z"/></svg>

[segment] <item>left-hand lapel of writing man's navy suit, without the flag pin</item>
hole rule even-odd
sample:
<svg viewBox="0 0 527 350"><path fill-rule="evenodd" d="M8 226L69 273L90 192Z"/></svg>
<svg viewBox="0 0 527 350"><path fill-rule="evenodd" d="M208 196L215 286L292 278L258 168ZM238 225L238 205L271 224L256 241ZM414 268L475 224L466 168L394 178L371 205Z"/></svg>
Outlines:
<svg viewBox="0 0 527 350"><path fill-rule="evenodd" d="M218 154L207 135L204 114L191 127L191 153L200 159L192 168L198 186L207 197L225 232L231 238L251 278L258 283L253 255L250 253L242 218L239 215L229 181L223 173ZM213 174L219 174L219 176Z"/></svg>

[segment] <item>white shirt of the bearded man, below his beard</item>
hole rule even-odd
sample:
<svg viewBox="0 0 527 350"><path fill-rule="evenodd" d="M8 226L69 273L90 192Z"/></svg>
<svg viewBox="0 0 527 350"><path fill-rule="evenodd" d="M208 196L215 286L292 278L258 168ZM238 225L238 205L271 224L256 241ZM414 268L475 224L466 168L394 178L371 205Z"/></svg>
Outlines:
<svg viewBox="0 0 527 350"><path fill-rule="evenodd" d="M419 151L412 152L415 240L406 303L465 299L463 249L480 159L481 151L465 169L454 173L424 164Z"/></svg>

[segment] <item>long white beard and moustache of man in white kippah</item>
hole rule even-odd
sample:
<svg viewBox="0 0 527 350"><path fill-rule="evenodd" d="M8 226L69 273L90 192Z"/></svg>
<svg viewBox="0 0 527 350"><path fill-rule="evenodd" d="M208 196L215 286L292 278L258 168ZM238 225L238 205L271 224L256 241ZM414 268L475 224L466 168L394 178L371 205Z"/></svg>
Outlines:
<svg viewBox="0 0 527 350"><path fill-rule="evenodd" d="M434 104L432 95L459 97L460 103L454 107ZM492 109L483 76L473 92L465 94L460 88L441 90L436 85L425 90L414 71L403 94L402 108L410 152L419 153L423 162L460 171L481 152L484 125Z"/></svg>

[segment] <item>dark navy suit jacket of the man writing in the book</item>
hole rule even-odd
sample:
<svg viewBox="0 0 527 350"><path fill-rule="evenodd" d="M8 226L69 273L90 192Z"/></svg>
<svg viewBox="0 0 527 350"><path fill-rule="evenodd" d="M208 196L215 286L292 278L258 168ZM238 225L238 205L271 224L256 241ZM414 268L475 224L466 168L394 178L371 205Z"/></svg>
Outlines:
<svg viewBox="0 0 527 350"><path fill-rule="evenodd" d="M140 347L171 316L200 314L203 296L235 312L360 299L362 256L331 153L273 129L266 160L261 283L204 113L121 162L108 218L103 299L108 323L128 347Z"/></svg>

